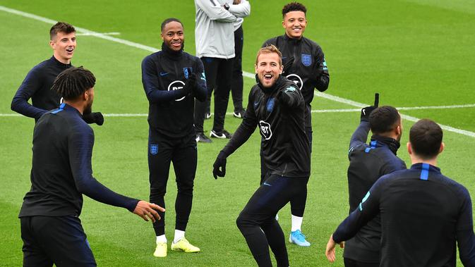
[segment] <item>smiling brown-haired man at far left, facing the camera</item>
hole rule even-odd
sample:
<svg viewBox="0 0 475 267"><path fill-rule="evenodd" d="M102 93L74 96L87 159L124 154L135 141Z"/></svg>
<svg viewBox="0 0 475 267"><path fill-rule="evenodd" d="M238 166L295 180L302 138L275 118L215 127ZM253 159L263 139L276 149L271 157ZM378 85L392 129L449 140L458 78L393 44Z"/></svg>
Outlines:
<svg viewBox="0 0 475 267"><path fill-rule="evenodd" d="M61 97L51 89L54 79L61 71L71 68L71 58L76 50L76 29L68 23L56 23L49 30L49 46L53 56L30 70L11 101L11 109L35 122L47 111L58 108ZM32 100L32 104L28 100ZM102 113L85 113L86 123L102 125Z"/></svg>

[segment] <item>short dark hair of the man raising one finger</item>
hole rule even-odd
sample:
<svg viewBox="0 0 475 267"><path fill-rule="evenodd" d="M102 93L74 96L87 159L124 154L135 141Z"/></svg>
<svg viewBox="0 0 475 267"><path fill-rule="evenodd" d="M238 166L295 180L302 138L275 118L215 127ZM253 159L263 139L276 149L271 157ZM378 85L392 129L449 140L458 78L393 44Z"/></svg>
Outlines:
<svg viewBox="0 0 475 267"><path fill-rule="evenodd" d="M390 132L400 122L401 116L393 106L380 106L369 115L369 128L374 135Z"/></svg>

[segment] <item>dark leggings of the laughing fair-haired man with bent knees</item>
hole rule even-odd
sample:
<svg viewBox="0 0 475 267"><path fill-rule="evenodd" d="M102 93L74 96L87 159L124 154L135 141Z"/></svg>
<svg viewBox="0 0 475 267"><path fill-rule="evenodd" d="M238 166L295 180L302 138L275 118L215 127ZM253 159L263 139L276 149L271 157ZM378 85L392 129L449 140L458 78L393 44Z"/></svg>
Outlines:
<svg viewBox="0 0 475 267"><path fill-rule="evenodd" d="M275 220L277 211L290 199L306 190L307 178L270 175L256 190L239 214L236 224L241 230L258 266L272 266L269 247L277 266L289 266L282 228Z"/></svg>

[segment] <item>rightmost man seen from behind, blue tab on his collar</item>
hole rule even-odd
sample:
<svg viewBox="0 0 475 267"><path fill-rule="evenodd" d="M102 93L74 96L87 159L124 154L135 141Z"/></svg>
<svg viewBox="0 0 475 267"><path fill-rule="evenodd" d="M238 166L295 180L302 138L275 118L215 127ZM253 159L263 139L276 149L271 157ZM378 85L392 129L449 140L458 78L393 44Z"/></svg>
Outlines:
<svg viewBox="0 0 475 267"><path fill-rule="evenodd" d="M343 245L381 216L380 266L455 266L456 243L464 266L475 266L475 235L467 189L436 167L443 132L432 120L415 123L407 150L412 166L381 177L330 236L325 254L335 261Z"/></svg>

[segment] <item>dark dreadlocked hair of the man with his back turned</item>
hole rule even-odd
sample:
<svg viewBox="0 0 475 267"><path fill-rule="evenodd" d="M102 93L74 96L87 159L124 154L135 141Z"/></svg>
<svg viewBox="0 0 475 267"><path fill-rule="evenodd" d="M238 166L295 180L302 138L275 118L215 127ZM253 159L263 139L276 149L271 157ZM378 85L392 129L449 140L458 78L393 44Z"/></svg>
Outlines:
<svg viewBox="0 0 475 267"><path fill-rule="evenodd" d="M94 87L95 83L96 77L89 70L86 70L83 66L79 68L71 67L59 73L51 89L65 100L73 100Z"/></svg>

